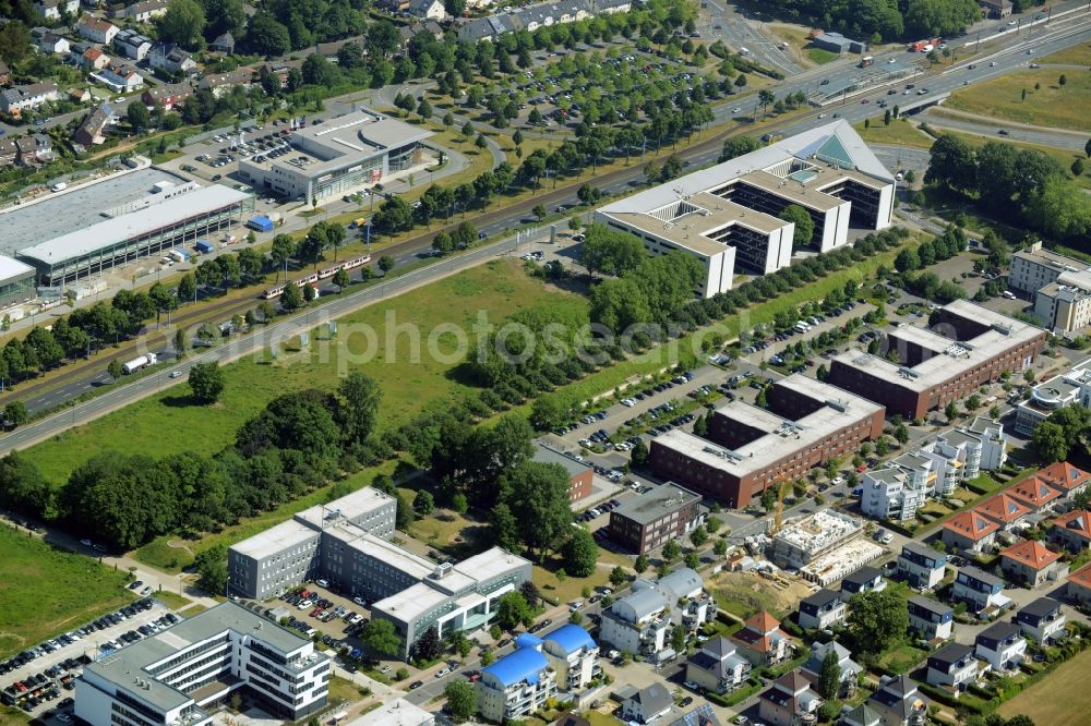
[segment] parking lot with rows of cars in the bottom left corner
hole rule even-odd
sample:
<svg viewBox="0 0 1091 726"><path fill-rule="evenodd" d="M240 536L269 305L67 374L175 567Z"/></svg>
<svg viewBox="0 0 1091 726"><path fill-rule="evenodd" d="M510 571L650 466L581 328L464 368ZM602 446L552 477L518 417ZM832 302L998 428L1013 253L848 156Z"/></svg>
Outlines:
<svg viewBox="0 0 1091 726"><path fill-rule="evenodd" d="M181 618L145 597L0 663L0 701L27 714L67 724L71 692L83 666L155 634ZM68 692L68 693L67 693Z"/></svg>

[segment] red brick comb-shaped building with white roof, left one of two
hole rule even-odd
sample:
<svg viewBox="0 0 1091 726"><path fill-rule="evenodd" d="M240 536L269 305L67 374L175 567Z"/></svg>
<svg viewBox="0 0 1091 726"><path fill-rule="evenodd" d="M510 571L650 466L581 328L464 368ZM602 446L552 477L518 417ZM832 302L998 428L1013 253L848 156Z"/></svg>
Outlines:
<svg viewBox="0 0 1091 726"><path fill-rule="evenodd" d="M882 406L801 374L778 380L766 399L767 409L742 401L718 409L710 440L679 429L652 439L651 470L741 509L883 433Z"/></svg>

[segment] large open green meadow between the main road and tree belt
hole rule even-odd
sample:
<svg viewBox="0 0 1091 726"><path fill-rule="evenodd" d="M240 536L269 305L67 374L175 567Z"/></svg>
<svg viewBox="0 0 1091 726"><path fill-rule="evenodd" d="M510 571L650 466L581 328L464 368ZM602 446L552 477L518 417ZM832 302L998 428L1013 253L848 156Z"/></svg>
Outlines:
<svg viewBox="0 0 1091 726"><path fill-rule="evenodd" d="M333 390L338 366L351 365L351 359L359 360L368 346L367 336L350 334L350 327L374 331L375 354L362 370L383 388L381 425L394 426L431 400L455 400L470 390L448 376L452 364L428 354L430 331L448 323L470 335L479 311L495 323L546 300L587 304L583 298L558 292L530 278L517 262L492 262L341 318L336 347L315 340L315 334L309 351L290 352L286 346L276 362L247 356L231 363L226 366L224 395L215 406L190 404L188 388L178 386L43 441L25 453L53 483L63 482L80 462L100 453L104 446L154 456L214 453L276 395L300 388ZM408 334L387 339L387 322L411 324L421 331L419 362L410 361ZM441 352L451 350L451 336L439 336L437 340Z"/></svg>

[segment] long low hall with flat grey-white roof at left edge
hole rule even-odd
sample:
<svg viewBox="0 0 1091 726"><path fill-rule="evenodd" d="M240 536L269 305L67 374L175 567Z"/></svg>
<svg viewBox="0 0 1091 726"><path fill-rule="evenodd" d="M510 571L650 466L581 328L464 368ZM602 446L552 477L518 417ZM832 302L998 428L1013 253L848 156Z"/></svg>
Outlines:
<svg viewBox="0 0 1091 726"><path fill-rule="evenodd" d="M252 210L250 194L136 169L4 211L0 252L32 266L38 286L63 287L241 223ZM41 241L11 249L27 240Z"/></svg>

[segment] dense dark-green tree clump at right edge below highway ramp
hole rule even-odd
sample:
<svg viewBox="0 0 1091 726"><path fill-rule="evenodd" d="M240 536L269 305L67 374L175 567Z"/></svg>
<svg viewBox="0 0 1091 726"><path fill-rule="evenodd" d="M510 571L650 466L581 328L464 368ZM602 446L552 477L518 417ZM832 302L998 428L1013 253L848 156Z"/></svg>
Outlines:
<svg viewBox="0 0 1091 726"><path fill-rule="evenodd" d="M958 136L940 134L924 181L1057 239L1091 232L1091 199L1041 152L995 141L973 148Z"/></svg>

